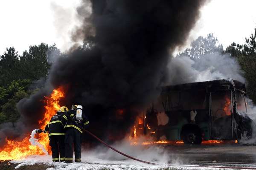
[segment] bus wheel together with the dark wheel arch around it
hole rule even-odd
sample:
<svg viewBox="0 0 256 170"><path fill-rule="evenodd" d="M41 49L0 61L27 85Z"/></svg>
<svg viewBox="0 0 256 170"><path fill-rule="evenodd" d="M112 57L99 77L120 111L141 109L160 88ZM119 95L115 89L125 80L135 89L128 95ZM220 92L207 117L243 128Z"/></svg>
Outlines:
<svg viewBox="0 0 256 170"><path fill-rule="evenodd" d="M184 144L201 144L201 128L195 124L186 124L181 129L180 137Z"/></svg>

